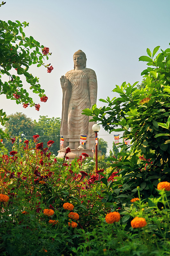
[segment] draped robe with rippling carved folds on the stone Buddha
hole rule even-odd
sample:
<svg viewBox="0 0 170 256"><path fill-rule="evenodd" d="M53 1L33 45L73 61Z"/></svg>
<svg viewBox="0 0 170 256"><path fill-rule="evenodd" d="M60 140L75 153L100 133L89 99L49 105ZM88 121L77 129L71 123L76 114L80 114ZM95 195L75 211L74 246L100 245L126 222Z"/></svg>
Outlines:
<svg viewBox="0 0 170 256"><path fill-rule="evenodd" d="M68 142L79 141L81 135L91 136L93 134L92 124L94 123L89 123L89 116L82 115L82 110L96 104L97 78L94 70L90 68L78 71L73 69L68 71L65 76L70 81L70 88L67 88L65 93L66 95L70 94L70 97L63 98L65 102L63 102L61 135ZM64 120L66 118L67 120ZM67 129L62 127L66 124ZM62 134L62 131L66 134Z"/></svg>

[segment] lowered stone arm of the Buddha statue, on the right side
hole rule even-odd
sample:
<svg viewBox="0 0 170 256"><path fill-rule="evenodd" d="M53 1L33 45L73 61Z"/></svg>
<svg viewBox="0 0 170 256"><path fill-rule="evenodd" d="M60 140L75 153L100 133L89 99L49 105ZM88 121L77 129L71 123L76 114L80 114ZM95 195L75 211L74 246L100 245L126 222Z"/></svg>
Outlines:
<svg viewBox="0 0 170 256"><path fill-rule="evenodd" d="M90 103L92 108L92 105L96 104L97 101L97 77L94 70L90 70L89 72L88 87L90 94Z"/></svg>

